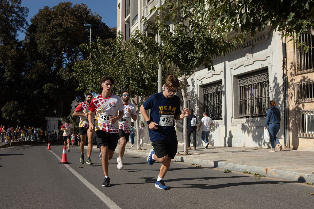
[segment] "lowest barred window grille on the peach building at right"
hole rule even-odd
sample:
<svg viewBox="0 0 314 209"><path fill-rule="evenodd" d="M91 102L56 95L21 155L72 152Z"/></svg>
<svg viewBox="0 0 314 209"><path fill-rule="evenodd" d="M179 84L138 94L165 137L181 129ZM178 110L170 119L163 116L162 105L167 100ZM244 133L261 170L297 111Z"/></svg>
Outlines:
<svg viewBox="0 0 314 209"><path fill-rule="evenodd" d="M296 111L296 128L299 137L314 137L314 110Z"/></svg>

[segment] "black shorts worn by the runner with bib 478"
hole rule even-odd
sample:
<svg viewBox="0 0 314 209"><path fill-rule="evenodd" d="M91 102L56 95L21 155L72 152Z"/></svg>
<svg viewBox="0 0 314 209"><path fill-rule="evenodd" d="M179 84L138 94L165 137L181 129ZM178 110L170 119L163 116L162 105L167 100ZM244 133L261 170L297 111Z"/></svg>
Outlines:
<svg viewBox="0 0 314 209"><path fill-rule="evenodd" d="M175 142L153 141L152 148L158 158L168 154L173 159L178 151L178 140Z"/></svg>

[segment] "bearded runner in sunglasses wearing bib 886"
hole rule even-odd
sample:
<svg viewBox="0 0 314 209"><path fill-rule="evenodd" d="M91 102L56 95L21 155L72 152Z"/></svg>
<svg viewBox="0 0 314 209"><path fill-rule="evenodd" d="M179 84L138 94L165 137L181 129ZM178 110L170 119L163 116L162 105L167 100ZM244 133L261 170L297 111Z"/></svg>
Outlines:
<svg viewBox="0 0 314 209"><path fill-rule="evenodd" d="M135 105L129 103L130 91L124 90L121 92L121 98L124 105L123 117L119 120L119 157L117 158L118 169L123 168L122 157L124 155L125 146L129 141L131 132L131 118L135 121L137 119Z"/></svg>

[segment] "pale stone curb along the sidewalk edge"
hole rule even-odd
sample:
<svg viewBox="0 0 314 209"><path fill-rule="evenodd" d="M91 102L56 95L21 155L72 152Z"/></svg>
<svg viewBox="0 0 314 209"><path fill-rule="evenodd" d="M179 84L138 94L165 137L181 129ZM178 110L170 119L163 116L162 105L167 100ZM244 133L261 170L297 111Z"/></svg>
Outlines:
<svg viewBox="0 0 314 209"><path fill-rule="evenodd" d="M140 156L147 156L148 152L138 152L133 150L125 150L127 154L134 154ZM305 174L299 172L293 172L288 170L279 170L273 168L263 168L257 166L250 166L250 165L241 165L241 164L234 164L234 163L226 163L221 162L218 160L203 160L203 159L194 159L184 156L175 156L174 160L177 162L185 162L188 164L197 164L205 167L214 167L214 168L221 168L221 169L229 169L233 171L243 172L243 171L250 171L256 172L259 174L264 174L267 177L278 178L278 179L285 179L291 181L302 181L302 182L314 182L314 174Z"/></svg>

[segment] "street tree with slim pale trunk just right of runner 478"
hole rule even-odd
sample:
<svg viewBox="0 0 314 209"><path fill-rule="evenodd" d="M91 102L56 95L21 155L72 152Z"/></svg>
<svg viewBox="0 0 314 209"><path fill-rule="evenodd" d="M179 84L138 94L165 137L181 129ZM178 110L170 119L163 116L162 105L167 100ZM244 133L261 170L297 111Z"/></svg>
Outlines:
<svg viewBox="0 0 314 209"><path fill-rule="evenodd" d="M182 78L183 107L187 107L187 79L200 66L214 70L214 56L225 55L244 39L243 33L228 38L229 25L219 25L220 11L215 1L166 1L154 22L143 18L144 24L162 40L160 62L175 68L173 74ZM206 2L206 3L205 3ZM156 8L153 8L154 10ZM172 26L172 27L171 27ZM168 66L171 67L171 66ZM187 154L187 118L183 119L184 153Z"/></svg>

